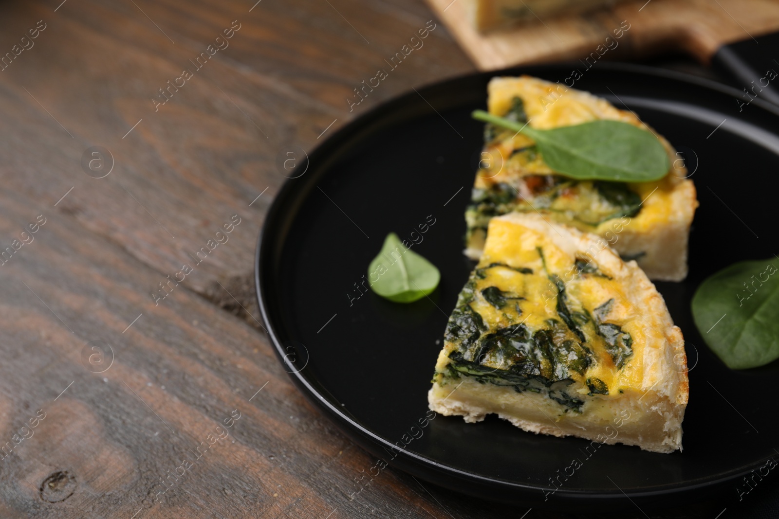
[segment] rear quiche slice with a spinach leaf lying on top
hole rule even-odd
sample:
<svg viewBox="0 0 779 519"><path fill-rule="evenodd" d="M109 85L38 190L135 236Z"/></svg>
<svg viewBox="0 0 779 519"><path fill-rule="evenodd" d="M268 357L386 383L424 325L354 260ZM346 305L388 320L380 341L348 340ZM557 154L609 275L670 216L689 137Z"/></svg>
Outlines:
<svg viewBox="0 0 779 519"><path fill-rule="evenodd" d="M528 76L494 78L491 114L549 129L612 119L646 128L633 112L557 83ZM466 210L465 254L478 259L489 220L508 212L540 212L560 223L605 237L625 259L635 259L650 279L687 275L687 238L698 205L693 181L661 136L671 169L660 181L576 181L555 174L529 137L487 124L485 147Z"/></svg>

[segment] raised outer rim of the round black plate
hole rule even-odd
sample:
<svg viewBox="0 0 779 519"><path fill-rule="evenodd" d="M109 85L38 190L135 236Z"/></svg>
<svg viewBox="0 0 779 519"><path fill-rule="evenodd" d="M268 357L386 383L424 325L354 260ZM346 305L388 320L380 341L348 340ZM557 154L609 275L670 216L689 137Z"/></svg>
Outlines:
<svg viewBox="0 0 779 519"><path fill-rule="evenodd" d="M493 71L476 71L476 72L469 72L465 74L460 74L453 76L451 78L442 79L440 81L435 82L428 82L425 83L416 90L418 90L418 94L424 94L426 91L431 89L440 89L440 88L446 88L449 84L456 84L457 82L462 82L466 79L475 79L478 77L486 77L486 76L495 76L495 75L519 75L526 73L525 71L531 70L534 71L534 73L543 73L543 72L554 72L554 71L566 71L567 68L570 66L575 66L575 62L573 61L562 61L558 63L553 64L539 64L539 65L520 65L515 67L509 67L509 68L502 68L499 70L493 70ZM685 72L679 72L675 70L669 70L664 68L655 68L650 67L647 65L637 65L633 63L625 63L625 62L604 62L601 63L598 67L599 69L606 69L611 72L628 72L631 74L639 74L639 75L648 75L653 77L660 77L662 79L671 79L678 82L683 82L687 84L692 84L696 87L703 88L703 89L709 89L714 90L714 92L721 93L727 96L732 96L735 99L738 99L738 97L741 96L742 92L735 87L724 85L723 83L716 82L712 79L703 78L696 75L691 75ZM364 114L359 115L358 117L355 117L353 120L348 121L347 124L344 124L343 127L339 128L336 132L334 132L332 135L330 135L329 138L327 138L324 142L319 143L318 146L315 146L314 149L310 153L307 153L306 155L306 162L310 164L312 162L312 158L316 158L319 156L327 156L328 151L330 148L337 148L337 146L340 146L340 144L354 134L359 132L359 130L364 127L367 124L372 124L372 121L375 121L375 119L382 117L383 113L388 113L392 110L394 106L397 104L404 103L404 100L406 100L409 97L414 96L415 92L412 90L411 92L402 92L399 93L396 96L392 96L387 100L382 101L375 107L372 107L369 110L366 110ZM774 116L779 116L779 106L774 105L773 103L770 103L765 100L760 99L753 99L751 104L755 104L756 107L759 107L760 110L764 110L768 112L769 114L773 114ZM779 132L774 132L775 135L779 136ZM299 177L296 177L299 178ZM259 236L257 239L257 245L256 245L256 252L255 252L255 268L254 268L254 278L255 278L255 295L257 297L257 303L259 306L259 312L263 317L263 322L266 325L266 333L268 337L270 338L270 342L273 345L273 351L276 352L276 355L281 363L282 366L289 366L285 361L286 354L284 350L284 345L281 343L277 331L273 326L273 323L271 322L268 307L270 306L270 301L266 300L266 286L261 280L261 267L271 261L269 258L274 254L274 251L271 249L270 244L265 243L266 238L269 236L273 236L274 233L277 233L277 228L274 229L274 226L277 227L275 224L277 224L277 219L283 218L283 215L281 214L284 205L286 205L288 199L294 199L296 195L294 192L295 188L295 182L296 178L287 178L287 181L284 181L284 184L282 184L280 190L278 191L276 197L273 198L273 202L271 202L270 207L268 208L265 219L263 221L263 226L261 227L259 231ZM266 245L266 247L263 247L263 244ZM377 451L395 451L397 452L396 456L392 458L392 461L388 462L388 465L396 466L397 468L400 468L400 470L403 470L404 472L408 472L412 475L418 475L422 479L425 479L428 482L432 482L434 484L445 486L446 488L456 490L458 492L464 492L469 493L471 496L476 496L481 499L485 500L492 500L492 501L498 501L503 503L536 503L536 506L539 507L546 507L548 509L565 509L566 506L570 506L570 504L581 504L584 502L587 503L594 503L594 502L608 502L612 505L616 505L619 501L624 500L624 498L627 496L629 499L636 499L640 500L640 502L647 506L648 508L657 508L658 505L652 499L657 498L659 496L663 497L689 497L693 495L694 493L700 493L700 491L707 490L706 495L709 495L711 493L714 493L717 491L717 489L720 489L721 486L733 482L735 479L740 478L742 475L746 475L749 472L753 471L756 468L759 468L760 466L764 465L769 459L772 459L770 455L768 455L766 458L763 458L760 461L756 461L751 465L742 465L741 468L734 469L729 472L721 472L716 475L712 475L710 477L704 477L704 478L698 478L694 480L690 480L690 482L687 483L668 483L665 485L657 485L648 487L645 490L632 490L628 492L622 491L622 489L615 489L615 490L586 490L586 489L566 489L565 487L560 487L555 490L554 499L550 501L540 501L537 499L538 496L530 496L530 493L536 493L539 492L543 493L544 490L553 489L551 486L542 486L542 485L534 485L534 484L528 484L523 482L516 482L511 481L507 479L502 479L498 477L490 477L486 475L481 475L475 472L469 472L467 470L463 470L460 468L452 467L450 465L443 464L439 461L436 461L433 458L428 458L427 456L415 453L414 451L409 451L407 449L399 449L395 444L390 443L389 440L386 440L385 438L379 436L377 433L373 433L371 430L368 430L365 428L365 426L361 426L361 424L357 423L354 419L352 419L350 416L347 416L346 413L344 413L339 407L336 405L333 405L328 398L323 396L321 394L321 391L317 387L315 387L315 384L312 384L309 380L306 379L306 377L301 375L301 372L305 370L302 368L301 370L292 370L287 371L289 376L291 377L294 384L298 387L299 390L308 398L308 400L316 405L316 407L324 412L324 414L331 420L333 420L334 423L339 427L339 429L344 432L347 437L350 437L352 440L355 440L361 447L365 448L366 451L368 451L370 454L377 455L379 457L382 457L380 454L377 454ZM314 379L315 380L315 379ZM324 388L322 384L319 384L321 387ZM326 388L325 388L326 390ZM382 458L383 459L383 458ZM398 461L399 460L399 461ZM428 469L428 470L425 470ZM441 482L441 480L432 480L428 478L429 469L434 470L435 472L439 472L442 475L447 476L446 482ZM467 489L464 489L462 487L456 487L451 484L447 484L447 482L457 481L460 482L478 482L481 484L481 486L499 486L500 490L502 491L509 491L513 493L520 494L519 499L517 499L517 496L509 496L511 499L501 499L500 497L495 496L488 496L484 493L478 493L478 492L468 492ZM481 488L481 487L479 487ZM703 496L701 496L703 497ZM556 506L555 506L556 505ZM668 502L664 503L662 507L668 507Z"/></svg>

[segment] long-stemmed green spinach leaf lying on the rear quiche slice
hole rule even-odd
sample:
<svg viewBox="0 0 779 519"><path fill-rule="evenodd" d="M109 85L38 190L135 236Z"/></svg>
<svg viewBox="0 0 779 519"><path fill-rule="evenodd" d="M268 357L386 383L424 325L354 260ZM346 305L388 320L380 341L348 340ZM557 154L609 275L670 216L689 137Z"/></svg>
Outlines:
<svg viewBox="0 0 779 519"><path fill-rule="evenodd" d="M668 153L647 130L622 121L598 120L548 130L475 110L474 119L527 135L545 163L580 180L657 181L668 174Z"/></svg>

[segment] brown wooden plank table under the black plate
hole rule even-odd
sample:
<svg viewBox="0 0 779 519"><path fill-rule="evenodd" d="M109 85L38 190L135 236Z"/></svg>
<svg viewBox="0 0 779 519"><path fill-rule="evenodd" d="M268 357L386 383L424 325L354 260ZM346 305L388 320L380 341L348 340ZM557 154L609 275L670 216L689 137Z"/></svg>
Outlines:
<svg viewBox="0 0 779 519"><path fill-rule="evenodd" d="M0 4L0 517L570 517L350 498L374 459L257 321L277 156L474 67L419 0L255 1Z"/></svg>

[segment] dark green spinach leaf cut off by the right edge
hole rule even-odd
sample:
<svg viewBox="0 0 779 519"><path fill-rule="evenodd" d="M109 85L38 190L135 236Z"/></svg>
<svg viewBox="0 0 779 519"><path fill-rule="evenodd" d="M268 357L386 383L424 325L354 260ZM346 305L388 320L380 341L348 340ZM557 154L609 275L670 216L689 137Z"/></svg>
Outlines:
<svg viewBox="0 0 779 519"><path fill-rule="evenodd" d="M779 359L779 261L739 261L705 279L693 319L707 345L734 370Z"/></svg>

